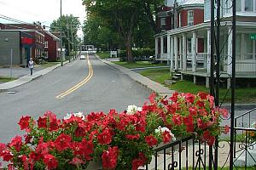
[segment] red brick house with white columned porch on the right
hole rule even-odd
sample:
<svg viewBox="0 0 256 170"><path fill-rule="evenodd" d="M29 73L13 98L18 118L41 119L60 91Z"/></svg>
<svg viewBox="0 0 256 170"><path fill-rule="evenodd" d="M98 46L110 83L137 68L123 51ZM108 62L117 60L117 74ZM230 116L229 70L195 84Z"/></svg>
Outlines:
<svg viewBox="0 0 256 170"><path fill-rule="evenodd" d="M211 0L183 0L172 3L170 14L174 23L171 30L155 35L155 55L167 60L171 69L196 77L210 77L210 19ZM222 76L231 74L232 7L231 0L221 1L221 68ZM256 1L236 1L236 77L256 77ZM203 68L198 68L202 63ZM192 66L191 66L192 65Z"/></svg>

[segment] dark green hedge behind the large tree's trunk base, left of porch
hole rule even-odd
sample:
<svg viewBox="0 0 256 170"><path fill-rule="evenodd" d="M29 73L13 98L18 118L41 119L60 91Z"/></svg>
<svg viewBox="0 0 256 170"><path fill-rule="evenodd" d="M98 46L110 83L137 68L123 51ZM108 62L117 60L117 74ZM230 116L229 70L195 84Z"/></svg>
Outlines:
<svg viewBox="0 0 256 170"><path fill-rule="evenodd" d="M150 56L154 56L154 49L152 48L138 48L132 49L132 56L134 61L145 61L150 60ZM121 50L119 54L121 61L127 60L127 55L125 50Z"/></svg>

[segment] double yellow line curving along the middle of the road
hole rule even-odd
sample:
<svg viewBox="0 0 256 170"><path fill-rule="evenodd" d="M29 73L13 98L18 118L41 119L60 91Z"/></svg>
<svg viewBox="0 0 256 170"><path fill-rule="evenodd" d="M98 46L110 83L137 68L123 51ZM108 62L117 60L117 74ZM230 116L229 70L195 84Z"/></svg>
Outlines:
<svg viewBox="0 0 256 170"><path fill-rule="evenodd" d="M92 66L90 64L90 59L89 59L89 55L88 54L87 54L87 64L88 64L88 67L89 67L89 74L88 74L88 76L85 77L82 82L79 82L77 85L73 86L73 88L70 88L66 92L56 96L55 99L65 98L65 96L67 96L68 94L73 93L78 88L81 88L86 82L90 81L90 78L93 76L93 69L92 69Z"/></svg>

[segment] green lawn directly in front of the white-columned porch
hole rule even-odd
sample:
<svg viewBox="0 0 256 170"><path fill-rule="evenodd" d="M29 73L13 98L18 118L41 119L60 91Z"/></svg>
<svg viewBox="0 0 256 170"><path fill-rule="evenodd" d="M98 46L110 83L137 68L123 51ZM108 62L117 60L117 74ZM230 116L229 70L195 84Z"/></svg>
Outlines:
<svg viewBox="0 0 256 170"><path fill-rule="evenodd" d="M170 79L170 71L168 68L165 69L154 69L140 72L144 77L148 77L154 82L160 82L164 84L166 79ZM172 85L166 86L172 90L183 93L197 94L198 92L207 92L209 93L209 88L206 88L204 85L195 85L193 82L189 81L179 81ZM231 92L229 91L227 97L224 99L225 94L227 93L226 88L220 88L219 90L219 101L220 102L230 102ZM236 89L236 102L238 103L255 103L256 102L256 88L237 88Z"/></svg>

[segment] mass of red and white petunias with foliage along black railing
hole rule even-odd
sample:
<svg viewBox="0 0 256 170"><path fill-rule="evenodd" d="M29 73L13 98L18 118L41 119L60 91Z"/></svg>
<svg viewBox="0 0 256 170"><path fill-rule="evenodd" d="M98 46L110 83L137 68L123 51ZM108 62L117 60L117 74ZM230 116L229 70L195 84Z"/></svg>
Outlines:
<svg viewBox="0 0 256 170"><path fill-rule="evenodd" d="M154 146L175 137L195 134L214 144L229 127L219 126L228 111L213 105L203 93L170 99L151 94L142 108L131 105L121 113L76 113L60 120L48 111L37 121L22 116L18 124L26 135L0 144L0 157L19 169L85 169L99 159L104 169L137 169L151 161Z"/></svg>

